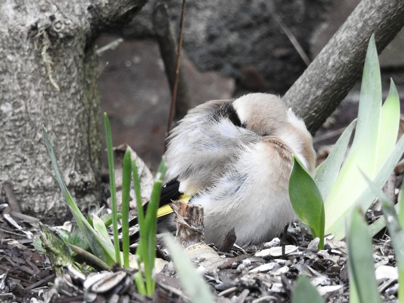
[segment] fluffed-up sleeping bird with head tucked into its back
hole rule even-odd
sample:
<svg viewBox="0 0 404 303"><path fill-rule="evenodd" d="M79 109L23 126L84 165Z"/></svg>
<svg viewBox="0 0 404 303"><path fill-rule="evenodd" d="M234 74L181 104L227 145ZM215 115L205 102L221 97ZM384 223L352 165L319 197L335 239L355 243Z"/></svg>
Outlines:
<svg viewBox="0 0 404 303"><path fill-rule="evenodd" d="M211 100L189 110L168 137L160 205L185 194L203 206L206 243L220 246L231 228L240 246L271 240L295 220L293 155L314 173L312 136L279 96ZM175 230L172 215L159 225Z"/></svg>

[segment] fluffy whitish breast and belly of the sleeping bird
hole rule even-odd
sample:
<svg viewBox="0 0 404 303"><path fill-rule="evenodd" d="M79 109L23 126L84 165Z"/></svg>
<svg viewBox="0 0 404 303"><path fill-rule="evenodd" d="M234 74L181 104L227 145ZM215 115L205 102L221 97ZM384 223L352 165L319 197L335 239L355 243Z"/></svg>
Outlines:
<svg viewBox="0 0 404 303"><path fill-rule="evenodd" d="M278 186L284 160L270 159L266 148L263 142L244 145L234 169L192 199L204 206L207 242L220 244L231 227L239 245L269 240L294 219L287 184Z"/></svg>

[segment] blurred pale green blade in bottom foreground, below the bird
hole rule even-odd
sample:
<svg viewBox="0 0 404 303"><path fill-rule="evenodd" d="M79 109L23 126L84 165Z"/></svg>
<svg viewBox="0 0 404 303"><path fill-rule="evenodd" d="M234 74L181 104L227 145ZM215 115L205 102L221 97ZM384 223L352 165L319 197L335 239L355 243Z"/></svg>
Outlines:
<svg viewBox="0 0 404 303"><path fill-rule="evenodd" d="M213 303L215 300L208 285L196 271L183 249L169 235L164 237L164 241L170 250L170 257L189 300L192 303Z"/></svg>

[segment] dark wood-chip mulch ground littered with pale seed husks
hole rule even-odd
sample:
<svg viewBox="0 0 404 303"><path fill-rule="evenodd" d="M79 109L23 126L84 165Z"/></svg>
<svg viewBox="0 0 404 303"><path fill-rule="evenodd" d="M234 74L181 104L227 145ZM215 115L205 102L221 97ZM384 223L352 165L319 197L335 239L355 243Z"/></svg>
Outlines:
<svg viewBox="0 0 404 303"><path fill-rule="evenodd" d="M186 292L181 287L172 263L164 266L156 276L157 289L153 298L139 296L133 279L122 269L115 268L118 279L108 291L84 286L84 277L66 270L58 278L59 294L55 289L55 274L46 256L33 246L32 235L38 235L35 223L26 224L16 220L22 229L8 222L7 207L0 217L0 301L18 302L185 302ZM369 217L372 214L369 214ZM374 216L373 216L374 217ZM243 248L233 248L229 252L217 251L223 258L215 270L205 269L206 281L219 302L288 302L291 298L294 280L299 274L306 274L328 302L348 302L349 283L346 265L346 246L343 241L328 239L324 250L317 250L311 243L311 236L294 224L289 232L293 237L285 237L285 256L282 257L281 244L275 239L268 243ZM288 240L292 239L292 240ZM271 248L272 247L272 248ZM374 259L376 267L395 267L393 250L389 237L383 232L374 239ZM169 260L164 247L160 246L161 257ZM213 247L216 249L216 247ZM217 250L217 249L216 249ZM203 264L204 260L198 260ZM200 265L199 264L199 265ZM110 273L99 274L107 277ZM395 302L397 281L389 273L381 274L379 290L385 302ZM95 275L93 275L95 276ZM100 276L98 276L100 277ZM111 277L111 276L108 276ZM125 278L126 277L126 278ZM108 280L108 278L106 278ZM99 280L99 279L98 279ZM111 279L109 279L111 280ZM88 285L88 282L86 282ZM87 289L86 289L87 287Z"/></svg>

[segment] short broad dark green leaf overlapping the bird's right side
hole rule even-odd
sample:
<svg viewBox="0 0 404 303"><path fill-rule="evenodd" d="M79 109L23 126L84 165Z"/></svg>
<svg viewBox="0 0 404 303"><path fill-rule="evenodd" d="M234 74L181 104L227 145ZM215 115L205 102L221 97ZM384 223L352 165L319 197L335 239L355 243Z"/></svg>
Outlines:
<svg viewBox="0 0 404 303"><path fill-rule="evenodd" d="M323 249L325 217L323 198L312 176L294 156L289 179L289 197L296 216L311 228L313 237L320 238L319 249Z"/></svg>

